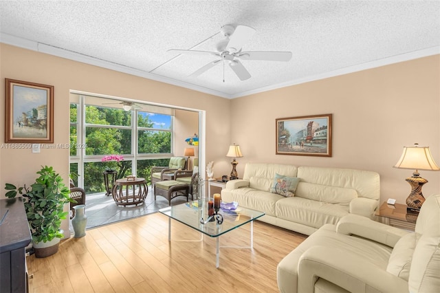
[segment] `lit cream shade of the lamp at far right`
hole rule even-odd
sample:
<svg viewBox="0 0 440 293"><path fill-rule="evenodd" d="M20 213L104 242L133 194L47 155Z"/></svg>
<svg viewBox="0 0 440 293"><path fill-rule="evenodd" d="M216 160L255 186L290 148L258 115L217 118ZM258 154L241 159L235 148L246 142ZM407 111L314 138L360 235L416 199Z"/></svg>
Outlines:
<svg viewBox="0 0 440 293"><path fill-rule="evenodd" d="M394 168L439 171L429 146L404 146L404 152Z"/></svg>

